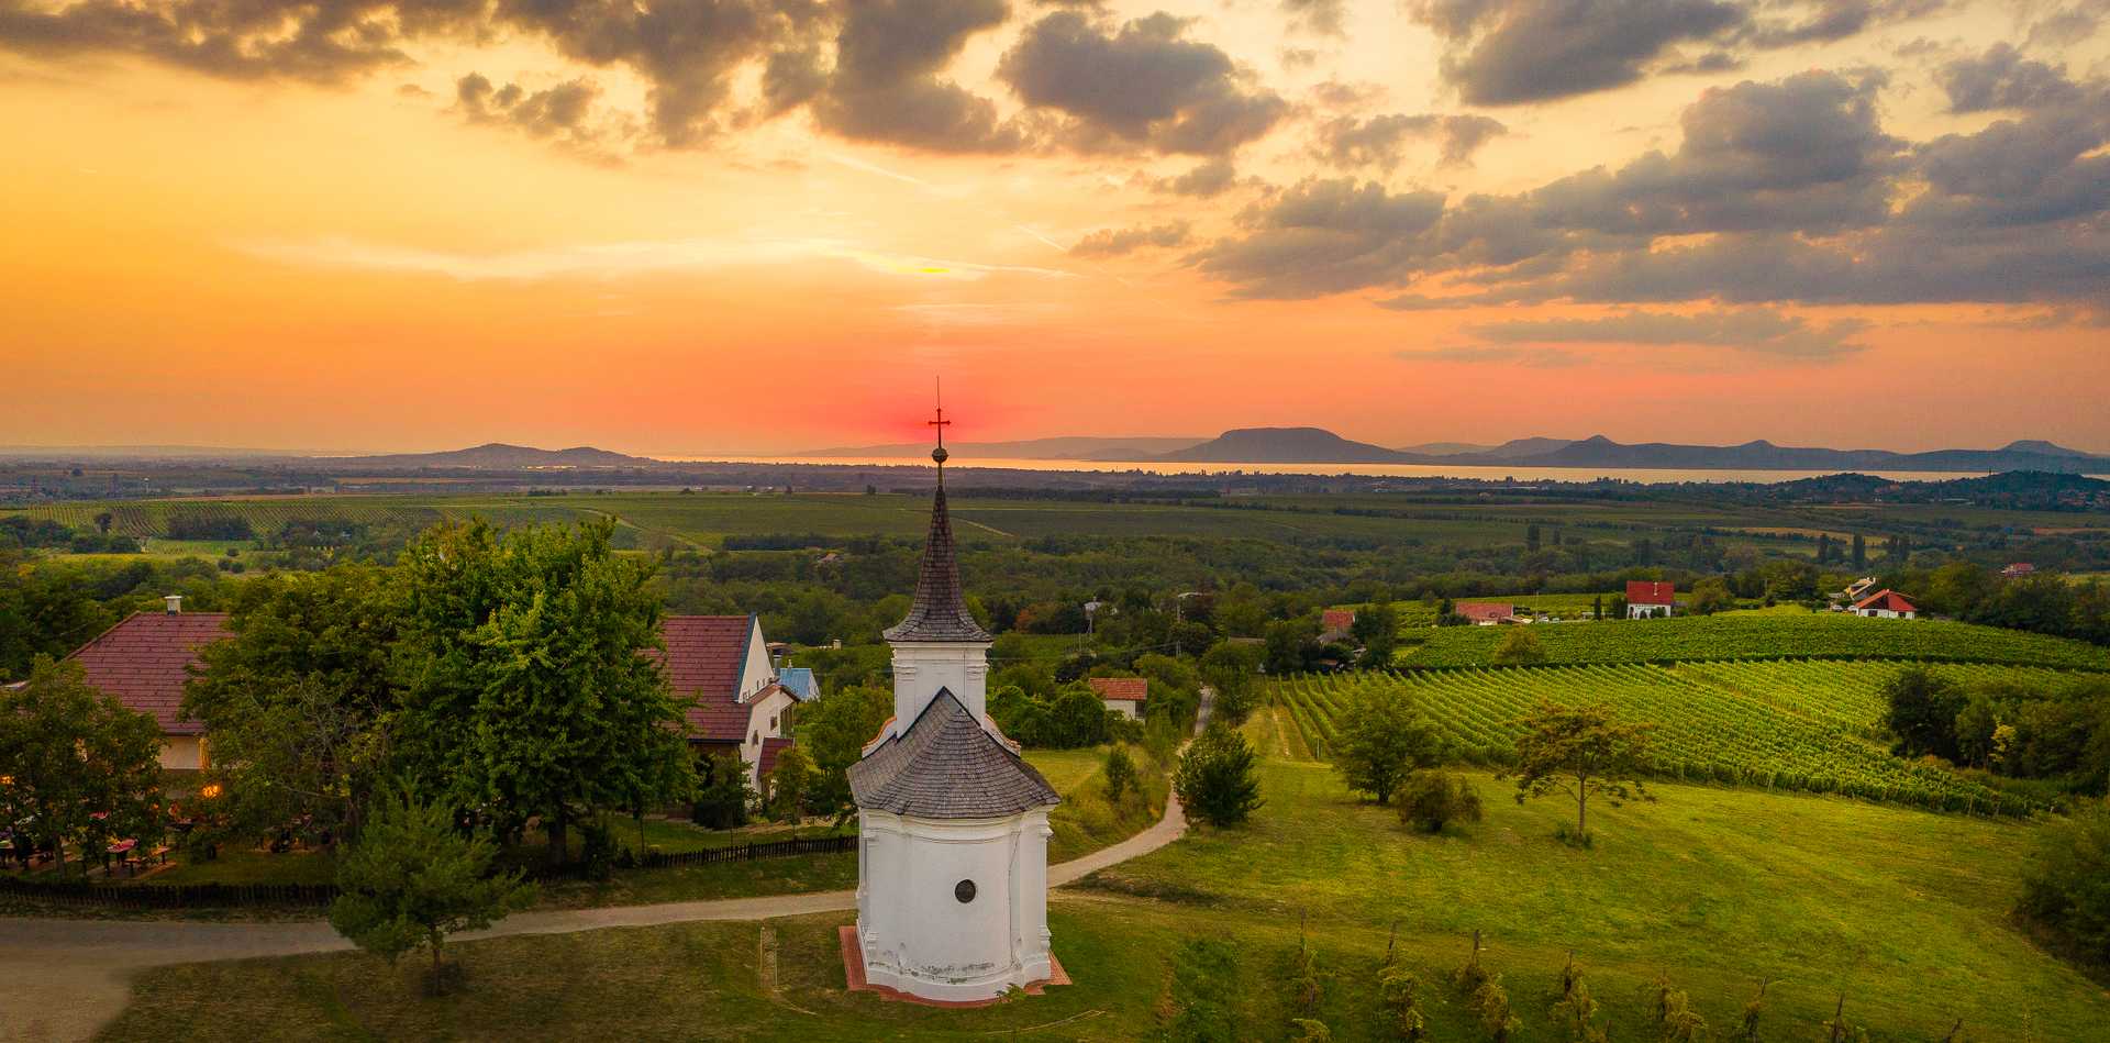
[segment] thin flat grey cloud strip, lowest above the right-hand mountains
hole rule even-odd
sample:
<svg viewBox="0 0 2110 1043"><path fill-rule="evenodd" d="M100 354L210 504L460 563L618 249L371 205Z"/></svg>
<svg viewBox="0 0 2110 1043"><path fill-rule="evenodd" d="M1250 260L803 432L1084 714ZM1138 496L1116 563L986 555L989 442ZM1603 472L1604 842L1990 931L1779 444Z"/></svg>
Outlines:
<svg viewBox="0 0 2110 1043"><path fill-rule="evenodd" d="M1496 344L1656 344L1734 348L1787 359L1838 359L1863 350L1855 342L1861 319L1815 325L1772 308L1711 310L1699 315L1623 312L1604 319L1536 319L1473 325L1469 331Z"/></svg>

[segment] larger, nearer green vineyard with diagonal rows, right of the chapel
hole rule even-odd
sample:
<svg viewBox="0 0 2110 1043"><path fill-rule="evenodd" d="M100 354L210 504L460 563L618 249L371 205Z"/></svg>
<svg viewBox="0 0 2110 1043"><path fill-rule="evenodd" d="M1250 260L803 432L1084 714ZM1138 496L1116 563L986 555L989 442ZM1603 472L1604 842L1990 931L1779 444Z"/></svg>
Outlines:
<svg viewBox="0 0 2110 1043"><path fill-rule="evenodd" d="M1741 661L1591 663L1523 669L1443 669L1298 676L1274 684L1283 750L1325 760L1340 716L1369 686L1403 688L1460 760L1515 760L1521 718L1534 703L1608 703L1650 722L1652 769L1663 779L1718 781L1937 811L2019 815L2034 804L1954 771L1888 754L1878 735L1880 686L1905 663ZM1967 684L2007 680L2049 688L2057 669L1939 665Z"/></svg>

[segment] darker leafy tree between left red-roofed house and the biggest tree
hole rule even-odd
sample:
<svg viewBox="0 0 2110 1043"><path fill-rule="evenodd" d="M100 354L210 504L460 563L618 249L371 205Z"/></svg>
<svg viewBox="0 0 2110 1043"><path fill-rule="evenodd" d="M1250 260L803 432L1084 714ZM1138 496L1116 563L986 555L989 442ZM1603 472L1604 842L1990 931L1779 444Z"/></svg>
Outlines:
<svg viewBox="0 0 2110 1043"><path fill-rule="evenodd" d="M198 650L184 716L205 724L224 826L255 836L289 821L359 828L388 771L390 657L401 606L367 566L272 574L241 587L232 638Z"/></svg>

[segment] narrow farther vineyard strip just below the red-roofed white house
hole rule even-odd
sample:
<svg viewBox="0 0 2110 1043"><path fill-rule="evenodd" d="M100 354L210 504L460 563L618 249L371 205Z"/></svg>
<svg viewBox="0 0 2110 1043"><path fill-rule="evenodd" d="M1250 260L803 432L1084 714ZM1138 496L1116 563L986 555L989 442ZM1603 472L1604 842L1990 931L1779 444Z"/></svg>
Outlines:
<svg viewBox="0 0 2110 1043"><path fill-rule="evenodd" d="M1399 665L1477 667L1494 659L1507 627L1441 627L1399 655ZM1861 619L1844 612L1720 614L1612 623L1540 623L1532 638L1547 663L1677 663L1692 659L1929 659L2110 669L2110 648L2000 627L1929 619Z"/></svg>

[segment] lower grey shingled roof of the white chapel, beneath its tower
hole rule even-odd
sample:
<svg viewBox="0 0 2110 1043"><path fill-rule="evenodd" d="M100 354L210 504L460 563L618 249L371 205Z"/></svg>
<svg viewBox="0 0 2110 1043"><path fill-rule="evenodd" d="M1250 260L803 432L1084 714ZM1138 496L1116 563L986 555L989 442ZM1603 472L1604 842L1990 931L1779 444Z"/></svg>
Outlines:
<svg viewBox="0 0 2110 1043"><path fill-rule="evenodd" d="M994 819L1061 802L947 688L907 731L850 764L850 794L861 809L924 819Z"/></svg>

